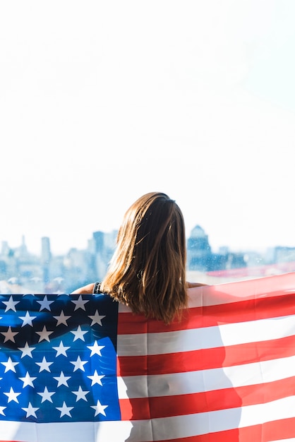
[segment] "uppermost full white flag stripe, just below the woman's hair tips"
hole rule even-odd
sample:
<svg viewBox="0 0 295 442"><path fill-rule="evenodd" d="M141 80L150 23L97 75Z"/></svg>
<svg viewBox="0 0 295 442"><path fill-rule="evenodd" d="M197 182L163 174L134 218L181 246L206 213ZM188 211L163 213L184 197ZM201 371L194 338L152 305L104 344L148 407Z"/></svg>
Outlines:
<svg viewBox="0 0 295 442"><path fill-rule="evenodd" d="M190 352L295 335L295 316L260 319L163 333L118 335L118 356Z"/></svg>

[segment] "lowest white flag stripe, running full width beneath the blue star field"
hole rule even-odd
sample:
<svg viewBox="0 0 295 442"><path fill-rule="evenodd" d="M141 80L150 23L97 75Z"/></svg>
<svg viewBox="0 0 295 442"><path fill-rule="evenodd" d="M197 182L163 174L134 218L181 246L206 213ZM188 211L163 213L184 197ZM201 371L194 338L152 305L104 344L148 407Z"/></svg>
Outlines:
<svg viewBox="0 0 295 442"><path fill-rule="evenodd" d="M20 442L147 442L226 431L288 419L294 415L295 397L292 396L263 405L146 421L55 424L1 422L0 439ZM294 438L289 441L294 441Z"/></svg>

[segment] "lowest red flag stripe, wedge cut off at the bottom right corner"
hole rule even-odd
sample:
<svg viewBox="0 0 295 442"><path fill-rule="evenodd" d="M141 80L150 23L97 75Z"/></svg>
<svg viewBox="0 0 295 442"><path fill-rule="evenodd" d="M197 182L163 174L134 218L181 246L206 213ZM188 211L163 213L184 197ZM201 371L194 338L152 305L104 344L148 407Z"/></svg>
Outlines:
<svg viewBox="0 0 295 442"><path fill-rule="evenodd" d="M295 417L265 422L239 429L217 431L200 436L165 439L157 442L271 442L295 437ZM152 442L152 441L149 441ZM154 441L155 442L155 441Z"/></svg>

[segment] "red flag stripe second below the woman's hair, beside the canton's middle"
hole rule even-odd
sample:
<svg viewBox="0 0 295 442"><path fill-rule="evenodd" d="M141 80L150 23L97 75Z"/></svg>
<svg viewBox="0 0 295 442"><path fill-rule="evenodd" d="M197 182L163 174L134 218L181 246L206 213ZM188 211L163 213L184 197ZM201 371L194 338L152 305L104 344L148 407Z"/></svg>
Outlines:
<svg viewBox="0 0 295 442"><path fill-rule="evenodd" d="M143 376L145 374L168 374L184 371L217 369L225 366L262 362L294 356L295 336L247 342L228 347L216 347L169 354L149 356L120 356L117 358L118 376Z"/></svg>

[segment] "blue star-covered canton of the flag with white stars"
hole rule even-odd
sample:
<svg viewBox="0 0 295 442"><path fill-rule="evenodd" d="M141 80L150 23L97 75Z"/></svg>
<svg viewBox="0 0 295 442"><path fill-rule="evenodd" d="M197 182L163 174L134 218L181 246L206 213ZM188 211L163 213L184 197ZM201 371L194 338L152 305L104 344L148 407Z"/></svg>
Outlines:
<svg viewBox="0 0 295 442"><path fill-rule="evenodd" d="M0 295L0 425L119 420L117 316L104 294Z"/></svg>

